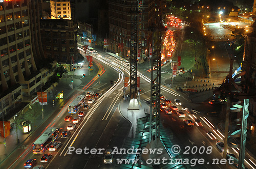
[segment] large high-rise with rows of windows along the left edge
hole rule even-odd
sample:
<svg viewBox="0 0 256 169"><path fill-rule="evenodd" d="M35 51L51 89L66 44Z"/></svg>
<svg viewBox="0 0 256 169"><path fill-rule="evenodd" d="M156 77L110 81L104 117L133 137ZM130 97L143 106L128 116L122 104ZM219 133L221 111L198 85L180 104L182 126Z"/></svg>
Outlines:
<svg viewBox="0 0 256 169"><path fill-rule="evenodd" d="M0 1L0 108L12 117L24 96L31 96L53 75L37 66L41 47L38 0ZM22 108L22 107L21 107Z"/></svg>

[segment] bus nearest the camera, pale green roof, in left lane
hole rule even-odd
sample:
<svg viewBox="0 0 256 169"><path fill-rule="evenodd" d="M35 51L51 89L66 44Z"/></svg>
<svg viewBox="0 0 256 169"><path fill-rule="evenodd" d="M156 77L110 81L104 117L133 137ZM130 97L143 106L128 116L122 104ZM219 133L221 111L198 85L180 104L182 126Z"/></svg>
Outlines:
<svg viewBox="0 0 256 169"><path fill-rule="evenodd" d="M33 153L34 154L42 154L44 153L47 148L50 146L51 143L55 141L59 136L59 128L57 127L50 127L46 129L42 135L40 135L35 142L33 143Z"/></svg>

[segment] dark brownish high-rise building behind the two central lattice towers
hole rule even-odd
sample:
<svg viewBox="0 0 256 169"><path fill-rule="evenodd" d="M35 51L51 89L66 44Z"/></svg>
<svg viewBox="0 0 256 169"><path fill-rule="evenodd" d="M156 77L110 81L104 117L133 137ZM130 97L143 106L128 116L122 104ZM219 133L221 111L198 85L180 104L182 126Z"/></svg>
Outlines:
<svg viewBox="0 0 256 169"><path fill-rule="evenodd" d="M129 57L130 55L130 39L131 39L131 19L137 20L137 43L140 43L142 57L147 57L149 48L151 47L150 27L152 12L155 10L154 0L143 1L115 1L109 0L109 37L110 50L118 53L122 57ZM163 0L165 6L162 9L165 11L166 1ZM140 4L141 3L141 4ZM139 11L140 10L140 11ZM133 17L131 18L131 13ZM165 12L163 12L165 15ZM159 21L161 22L161 21ZM139 27L140 26L140 27ZM140 33L138 31L141 31ZM138 36L140 35L140 37ZM140 40L140 42L139 42Z"/></svg>

